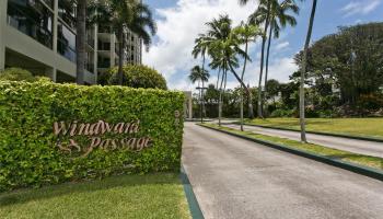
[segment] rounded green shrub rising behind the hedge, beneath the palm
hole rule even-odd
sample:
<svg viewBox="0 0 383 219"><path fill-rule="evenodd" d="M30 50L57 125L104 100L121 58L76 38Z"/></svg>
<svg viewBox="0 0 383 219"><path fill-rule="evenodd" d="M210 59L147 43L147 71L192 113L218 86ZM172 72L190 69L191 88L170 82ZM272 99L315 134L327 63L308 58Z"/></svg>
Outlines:
<svg viewBox="0 0 383 219"><path fill-rule="evenodd" d="M162 89L167 90L166 80L156 70L147 66L127 65L124 66L123 85L130 88ZM98 83L113 85L118 83L118 67L112 68L108 72L102 73Z"/></svg>

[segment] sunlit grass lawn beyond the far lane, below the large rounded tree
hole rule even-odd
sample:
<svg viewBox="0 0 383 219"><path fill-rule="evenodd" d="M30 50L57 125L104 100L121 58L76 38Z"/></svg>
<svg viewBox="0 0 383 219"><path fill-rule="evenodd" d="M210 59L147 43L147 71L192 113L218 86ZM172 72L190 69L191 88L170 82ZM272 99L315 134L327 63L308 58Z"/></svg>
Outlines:
<svg viewBox="0 0 383 219"><path fill-rule="evenodd" d="M298 118L253 119L245 123L300 129ZM306 129L312 131L344 134L383 139L383 118L307 118Z"/></svg>

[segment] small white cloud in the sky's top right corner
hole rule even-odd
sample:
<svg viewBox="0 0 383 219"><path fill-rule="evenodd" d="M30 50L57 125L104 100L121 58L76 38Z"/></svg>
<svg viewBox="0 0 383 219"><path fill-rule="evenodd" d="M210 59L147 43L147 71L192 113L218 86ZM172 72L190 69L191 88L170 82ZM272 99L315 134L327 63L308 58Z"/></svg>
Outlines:
<svg viewBox="0 0 383 219"><path fill-rule="evenodd" d="M381 3L382 0L351 1L350 3L341 8L340 11L345 13L345 16L351 16L356 14L364 15L374 11Z"/></svg>

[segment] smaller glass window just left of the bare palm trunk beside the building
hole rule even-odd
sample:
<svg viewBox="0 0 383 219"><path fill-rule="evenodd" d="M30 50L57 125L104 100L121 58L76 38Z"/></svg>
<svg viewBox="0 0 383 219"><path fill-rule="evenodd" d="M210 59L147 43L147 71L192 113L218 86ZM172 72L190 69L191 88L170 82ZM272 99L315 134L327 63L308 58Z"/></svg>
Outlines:
<svg viewBox="0 0 383 219"><path fill-rule="evenodd" d="M76 61L76 34L60 21L57 25L57 53Z"/></svg>

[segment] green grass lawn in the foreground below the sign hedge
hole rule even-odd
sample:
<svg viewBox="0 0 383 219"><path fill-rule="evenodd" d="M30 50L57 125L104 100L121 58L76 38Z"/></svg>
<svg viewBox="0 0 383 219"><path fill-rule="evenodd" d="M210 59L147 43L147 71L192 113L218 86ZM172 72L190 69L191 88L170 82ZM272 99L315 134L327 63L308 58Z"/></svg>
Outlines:
<svg viewBox="0 0 383 219"><path fill-rule="evenodd" d="M125 175L0 194L0 218L190 218L179 176Z"/></svg>

